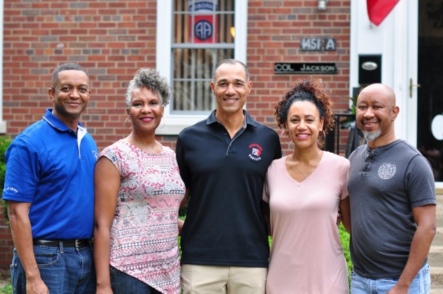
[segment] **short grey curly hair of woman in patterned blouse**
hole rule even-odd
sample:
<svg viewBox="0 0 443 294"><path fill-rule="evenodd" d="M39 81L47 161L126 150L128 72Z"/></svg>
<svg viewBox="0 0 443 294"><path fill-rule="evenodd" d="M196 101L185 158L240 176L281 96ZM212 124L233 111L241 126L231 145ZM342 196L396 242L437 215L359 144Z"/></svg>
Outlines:
<svg viewBox="0 0 443 294"><path fill-rule="evenodd" d="M162 77L154 68L143 67L140 68L134 78L129 81L126 90L126 107L131 106L131 95L135 89L147 88L158 94L161 99L161 104L165 107L169 103L171 95L171 87L168 80Z"/></svg>

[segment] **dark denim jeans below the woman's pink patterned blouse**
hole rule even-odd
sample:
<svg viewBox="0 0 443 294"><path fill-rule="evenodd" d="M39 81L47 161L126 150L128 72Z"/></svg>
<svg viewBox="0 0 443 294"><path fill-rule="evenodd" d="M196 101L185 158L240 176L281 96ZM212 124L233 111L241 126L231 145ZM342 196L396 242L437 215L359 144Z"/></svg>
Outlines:
<svg viewBox="0 0 443 294"><path fill-rule="evenodd" d="M141 282L141 280L132 277L120 270L109 266L109 273L111 274L111 288L112 292L117 294L157 294L160 293L150 285Z"/></svg>

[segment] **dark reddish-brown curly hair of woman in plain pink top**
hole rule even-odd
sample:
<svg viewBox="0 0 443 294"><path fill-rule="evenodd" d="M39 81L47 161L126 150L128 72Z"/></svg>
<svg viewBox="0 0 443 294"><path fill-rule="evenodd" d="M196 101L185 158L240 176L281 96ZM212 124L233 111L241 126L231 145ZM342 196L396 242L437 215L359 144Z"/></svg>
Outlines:
<svg viewBox="0 0 443 294"><path fill-rule="evenodd" d="M323 131L327 133L334 128L334 113L332 113L332 102L329 95L325 93L320 84L319 78L309 80L297 80L289 85L289 89L284 91L282 99L275 106L274 116L278 127L285 129L289 108L296 101L308 101L316 105L323 118Z"/></svg>

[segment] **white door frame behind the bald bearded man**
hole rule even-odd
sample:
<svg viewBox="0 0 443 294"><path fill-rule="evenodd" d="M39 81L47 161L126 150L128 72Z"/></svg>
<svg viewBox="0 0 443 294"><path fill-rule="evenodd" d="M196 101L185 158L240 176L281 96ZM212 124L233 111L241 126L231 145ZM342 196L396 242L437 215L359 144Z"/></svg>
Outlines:
<svg viewBox="0 0 443 294"><path fill-rule="evenodd" d="M381 55L381 82L395 92L400 108L395 134L417 147L418 3L401 0L379 26L368 18L366 1L351 0L350 97L359 87L359 55ZM439 191L443 182L435 183Z"/></svg>

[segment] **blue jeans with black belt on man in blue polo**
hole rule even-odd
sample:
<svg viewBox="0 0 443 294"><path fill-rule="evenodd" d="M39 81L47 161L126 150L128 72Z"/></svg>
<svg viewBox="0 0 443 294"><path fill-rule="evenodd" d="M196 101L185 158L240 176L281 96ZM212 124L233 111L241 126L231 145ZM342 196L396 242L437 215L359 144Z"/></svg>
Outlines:
<svg viewBox="0 0 443 294"><path fill-rule="evenodd" d="M49 293L94 294L96 272L91 246L34 246L35 260ZM11 264L12 291L26 293L26 274L14 248Z"/></svg>

